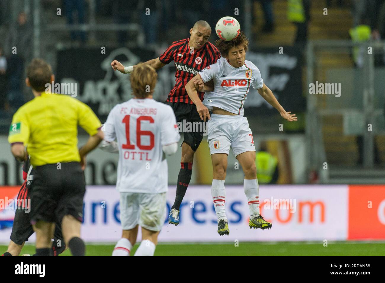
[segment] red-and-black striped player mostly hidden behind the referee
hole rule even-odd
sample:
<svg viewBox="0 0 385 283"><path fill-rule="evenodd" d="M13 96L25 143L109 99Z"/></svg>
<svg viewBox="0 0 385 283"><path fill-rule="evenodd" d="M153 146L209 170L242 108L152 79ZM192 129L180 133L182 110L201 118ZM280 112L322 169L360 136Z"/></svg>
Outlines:
<svg viewBox="0 0 385 283"><path fill-rule="evenodd" d="M33 234L33 227L30 223L30 197L29 190L32 189L34 169L29 162L29 157L23 163L23 180L24 183L17 195L17 206L15 218L13 219L12 232L8 249L1 256L18 256L28 241L28 238ZM65 250L65 242L62 235L62 228L59 222L55 225L54 243L52 245L53 256L59 256ZM30 256L29 254L25 254ZM24 255L23 255L24 256Z"/></svg>

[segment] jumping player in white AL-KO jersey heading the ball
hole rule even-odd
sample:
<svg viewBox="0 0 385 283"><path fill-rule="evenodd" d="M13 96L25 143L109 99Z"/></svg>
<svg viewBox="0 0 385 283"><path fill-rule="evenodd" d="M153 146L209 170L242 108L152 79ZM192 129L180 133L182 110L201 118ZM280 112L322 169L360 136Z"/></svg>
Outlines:
<svg viewBox="0 0 385 283"><path fill-rule="evenodd" d="M211 195L218 217L219 235L229 234L225 211L226 194L224 180L226 178L227 156L230 148L242 166L245 178L244 192L249 204L249 227L269 229L271 223L259 214L259 186L255 166L255 147L253 134L246 117L243 117L243 105L250 87L274 106L283 118L296 121L295 114L286 112L278 103L271 90L263 83L261 73L250 61L245 60L249 41L241 32L231 41L217 40L216 46L221 58L200 71L186 85L186 91L196 104L201 118L208 121L208 143L213 162L213 183ZM214 88L204 86L213 79ZM196 87L203 91L203 103L199 100ZM213 114L209 115L209 109Z"/></svg>

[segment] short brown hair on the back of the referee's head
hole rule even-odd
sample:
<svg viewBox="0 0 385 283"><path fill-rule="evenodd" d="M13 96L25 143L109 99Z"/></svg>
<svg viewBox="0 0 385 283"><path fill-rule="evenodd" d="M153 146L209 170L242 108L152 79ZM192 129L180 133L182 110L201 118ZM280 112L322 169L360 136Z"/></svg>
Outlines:
<svg viewBox="0 0 385 283"><path fill-rule="evenodd" d="M35 91L45 91L45 85L51 83L51 75L51 66L43 59L35 58L27 67L27 77Z"/></svg>

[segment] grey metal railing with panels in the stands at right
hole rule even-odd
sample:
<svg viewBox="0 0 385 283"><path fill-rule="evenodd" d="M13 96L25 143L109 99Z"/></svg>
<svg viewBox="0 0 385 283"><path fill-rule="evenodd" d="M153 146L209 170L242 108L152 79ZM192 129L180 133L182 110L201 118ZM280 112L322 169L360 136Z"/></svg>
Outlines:
<svg viewBox="0 0 385 283"><path fill-rule="evenodd" d="M352 57L354 48L365 51L359 54L362 59L361 67L354 64ZM325 126L323 125L323 118L331 115L341 115L343 117L344 135L363 135L363 168L373 168L374 136L385 134L383 125L380 125L382 123L378 123L378 121L382 120L378 119L378 117L384 115L384 105L378 104L378 101L382 101L382 97L385 97L383 89L378 87L378 83L384 80L380 77L375 79L376 73L382 74L385 71L385 66L375 66L375 55L383 56L385 54L385 41L355 43L351 40L314 40L308 42L306 51L306 88L310 88L310 84L314 84L316 81L336 83L336 81L325 81L327 78L337 80L337 82L340 80L341 83L344 82L345 90L348 81L353 84L353 86L348 86L345 93L343 89L340 89L342 95L338 99L341 100L336 100L337 98L332 98L332 96L326 96L325 98L325 96L308 93L306 115L308 168L320 172L321 182L328 182L328 170L321 169L324 162L327 162L323 137ZM322 52L323 55L320 55ZM345 59L351 57L351 65L326 66L327 64L324 64L321 59L322 57L328 59L327 54L334 57L345 57ZM338 58L335 62L338 63ZM333 77L333 74L338 74L338 76ZM346 80L349 76L350 80ZM336 103L337 101L338 103ZM345 123L346 119L352 116L360 117L362 120L358 121L356 129L353 131L348 130L347 123ZM365 130L369 125L372 126L371 130Z"/></svg>

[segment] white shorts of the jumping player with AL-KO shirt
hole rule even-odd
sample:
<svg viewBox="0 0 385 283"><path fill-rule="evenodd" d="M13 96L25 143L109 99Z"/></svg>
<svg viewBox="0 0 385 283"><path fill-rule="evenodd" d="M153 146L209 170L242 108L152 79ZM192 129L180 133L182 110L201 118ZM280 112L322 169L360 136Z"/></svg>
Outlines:
<svg viewBox="0 0 385 283"><path fill-rule="evenodd" d="M210 154L229 154L230 147L235 156L255 151L253 134L246 117L212 114L207 126Z"/></svg>

